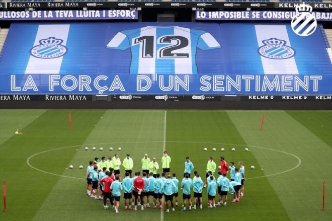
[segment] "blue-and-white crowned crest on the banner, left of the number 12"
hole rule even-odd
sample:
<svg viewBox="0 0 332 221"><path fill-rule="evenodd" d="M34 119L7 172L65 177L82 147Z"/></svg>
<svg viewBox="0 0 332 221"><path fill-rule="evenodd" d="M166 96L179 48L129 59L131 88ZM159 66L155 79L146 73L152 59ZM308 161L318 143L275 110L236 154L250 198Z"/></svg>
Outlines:
<svg viewBox="0 0 332 221"><path fill-rule="evenodd" d="M34 57L45 59L61 57L67 52L67 48L61 45L62 42L62 39L54 37L41 39L39 41L40 44L30 50L30 54Z"/></svg>

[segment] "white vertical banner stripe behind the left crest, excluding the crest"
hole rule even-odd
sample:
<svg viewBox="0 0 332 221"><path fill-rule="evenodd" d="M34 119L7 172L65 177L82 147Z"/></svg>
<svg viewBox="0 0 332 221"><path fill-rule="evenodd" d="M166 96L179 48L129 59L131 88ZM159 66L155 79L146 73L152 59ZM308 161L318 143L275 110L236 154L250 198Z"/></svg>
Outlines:
<svg viewBox="0 0 332 221"><path fill-rule="evenodd" d="M41 39L54 37L63 40L61 45L67 43L70 25L39 25L34 46L39 45ZM59 73L63 56L52 59L37 58L30 55L25 73Z"/></svg>

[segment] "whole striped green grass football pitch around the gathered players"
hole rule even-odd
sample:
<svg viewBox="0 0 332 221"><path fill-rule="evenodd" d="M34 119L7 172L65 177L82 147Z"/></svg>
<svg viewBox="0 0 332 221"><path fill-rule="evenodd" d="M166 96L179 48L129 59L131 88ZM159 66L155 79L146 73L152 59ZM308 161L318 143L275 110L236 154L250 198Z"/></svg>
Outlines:
<svg viewBox="0 0 332 221"><path fill-rule="evenodd" d="M332 111L72 110L71 118L69 130L68 110L0 110L0 178L7 181L8 209L0 220L331 220ZM203 209L182 212L179 188L179 207L166 213L124 210L122 193L119 214L87 197L90 160L115 153L123 160L130 153L133 170L141 171L145 153L161 166L163 150L180 182L187 156L203 178L210 156L217 165L220 156L235 166L242 161L244 197L232 204L228 194L227 206L207 208L204 189Z"/></svg>

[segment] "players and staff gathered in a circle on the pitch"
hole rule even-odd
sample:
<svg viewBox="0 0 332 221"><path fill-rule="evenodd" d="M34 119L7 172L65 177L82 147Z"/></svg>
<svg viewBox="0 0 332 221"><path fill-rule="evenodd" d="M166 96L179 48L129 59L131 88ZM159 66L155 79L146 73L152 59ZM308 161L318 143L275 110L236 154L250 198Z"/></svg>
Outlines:
<svg viewBox="0 0 332 221"><path fill-rule="evenodd" d="M173 173L172 179L170 174L171 157L167 152L163 152L161 158L161 176L157 173L159 165L156 158L152 161L145 154L141 160L142 173L135 172L132 177L133 160L130 154L122 162L125 169L125 178L121 179L120 166L121 160L118 154L114 157L95 158L95 161L90 161L87 167L86 179L87 195L95 199L103 200L104 208L108 209L108 199L114 207L115 212L119 213L119 202L121 192L123 191L123 198L125 203L125 210L137 210L137 204L141 206L141 210L149 208L150 198L153 199L153 209L162 207L162 197L164 197L164 206L166 212L175 211L175 206L178 206L179 196L179 180L176 174ZM233 194L232 203L239 202L240 197L244 194L244 166L242 162L238 162L238 168L235 168L234 162L230 162L228 167L224 157L220 157L220 170L217 174L217 179L214 177L216 171L216 163L210 157L206 167L206 178L203 182L197 171L194 171L194 165L187 157L185 161L184 178L181 182L181 189L183 192L183 208L181 211L186 211L187 200L189 210L196 209L202 206L202 189L207 188L208 194L208 208L213 208L219 205L226 206L228 190ZM230 180L226 177L228 170L230 170ZM193 179L191 176L193 174ZM100 188L99 196L98 186ZM191 191L194 192L194 202L191 199ZM216 194L219 194L218 202L216 203ZM175 197L175 204L173 198ZM224 200L224 201L223 201ZM134 206L132 208L132 206Z"/></svg>

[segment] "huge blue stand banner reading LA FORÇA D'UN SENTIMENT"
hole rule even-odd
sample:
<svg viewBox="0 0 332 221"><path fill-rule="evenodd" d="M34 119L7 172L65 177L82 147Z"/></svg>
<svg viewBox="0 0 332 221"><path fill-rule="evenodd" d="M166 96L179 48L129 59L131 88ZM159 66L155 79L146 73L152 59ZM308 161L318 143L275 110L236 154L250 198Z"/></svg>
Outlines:
<svg viewBox="0 0 332 221"><path fill-rule="evenodd" d="M331 94L331 73L319 28L301 37L285 23L15 23L0 92Z"/></svg>

